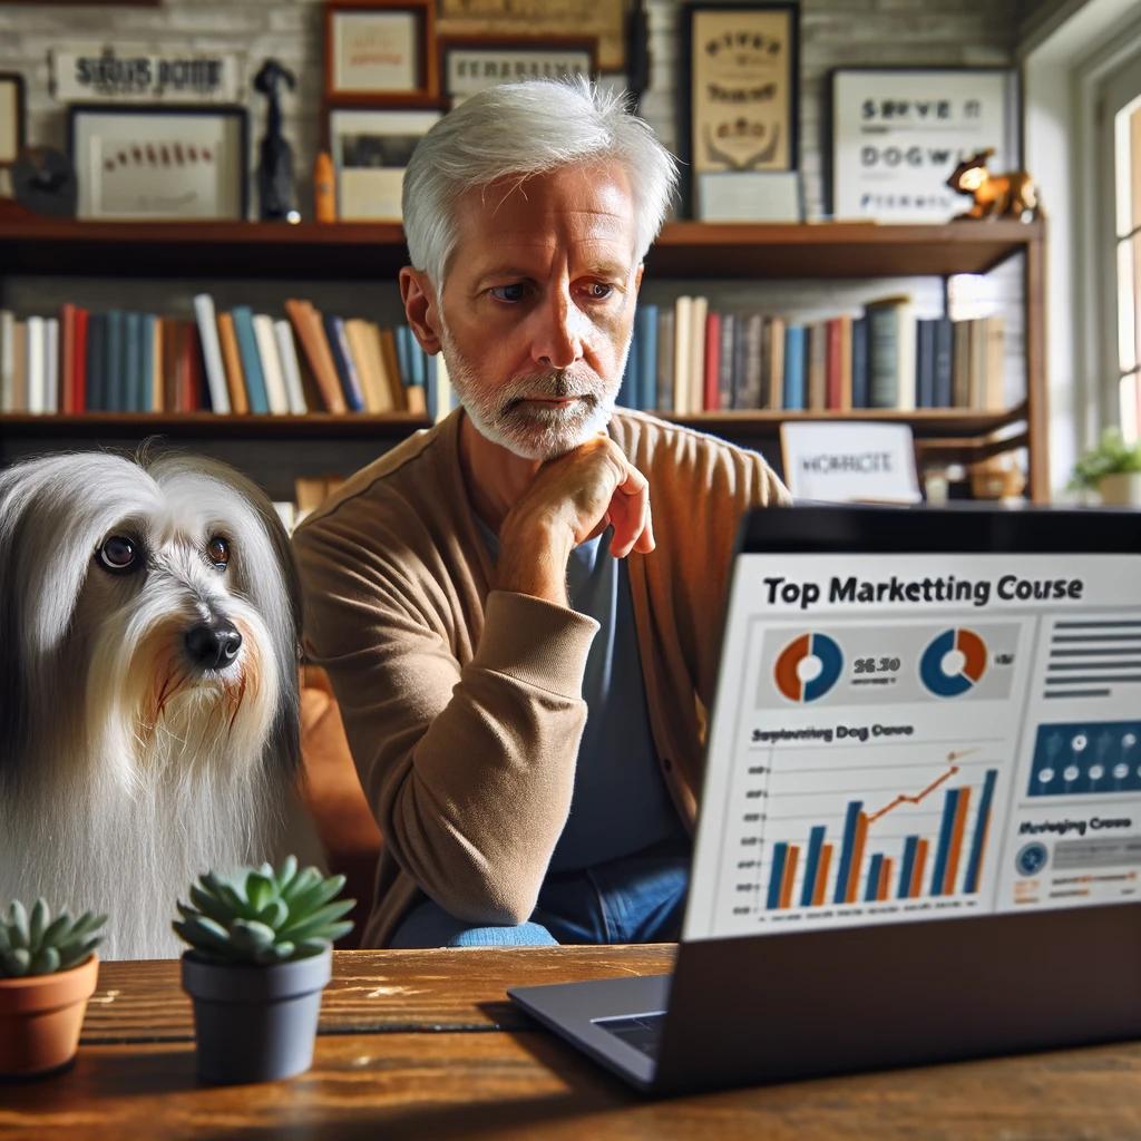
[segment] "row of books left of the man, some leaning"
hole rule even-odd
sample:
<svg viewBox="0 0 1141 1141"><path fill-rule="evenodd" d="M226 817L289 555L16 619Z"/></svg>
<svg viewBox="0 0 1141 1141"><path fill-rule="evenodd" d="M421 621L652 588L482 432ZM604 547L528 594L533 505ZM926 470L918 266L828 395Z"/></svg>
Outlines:
<svg viewBox="0 0 1141 1141"><path fill-rule="evenodd" d="M285 311L217 311L209 293L194 298L194 321L71 304L23 321L0 310L0 412L435 414L434 358L407 325L297 299Z"/></svg>

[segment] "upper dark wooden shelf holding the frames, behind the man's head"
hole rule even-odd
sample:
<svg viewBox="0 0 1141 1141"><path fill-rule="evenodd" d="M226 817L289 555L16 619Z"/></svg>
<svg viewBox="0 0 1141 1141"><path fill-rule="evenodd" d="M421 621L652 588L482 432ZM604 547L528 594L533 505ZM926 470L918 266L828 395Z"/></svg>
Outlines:
<svg viewBox="0 0 1141 1141"><path fill-rule="evenodd" d="M678 278L837 278L984 274L1043 238L1042 222L945 226L670 222L647 273ZM395 281L395 224L0 220L9 274Z"/></svg>

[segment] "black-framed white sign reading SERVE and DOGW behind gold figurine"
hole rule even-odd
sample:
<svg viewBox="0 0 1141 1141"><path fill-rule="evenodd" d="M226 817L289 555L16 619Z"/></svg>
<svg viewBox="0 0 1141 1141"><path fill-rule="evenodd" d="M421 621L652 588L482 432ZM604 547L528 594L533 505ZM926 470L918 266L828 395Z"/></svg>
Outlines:
<svg viewBox="0 0 1141 1141"><path fill-rule="evenodd" d="M947 186L963 159L994 147L992 171L1020 163L1009 68L837 68L827 107L827 209L839 219L949 221L971 204Z"/></svg>

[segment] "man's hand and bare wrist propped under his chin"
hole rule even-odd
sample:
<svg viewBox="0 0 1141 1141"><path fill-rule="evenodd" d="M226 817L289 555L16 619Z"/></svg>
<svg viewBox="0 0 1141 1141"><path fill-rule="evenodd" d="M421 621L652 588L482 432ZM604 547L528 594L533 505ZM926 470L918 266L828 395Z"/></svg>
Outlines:
<svg viewBox="0 0 1141 1141"><path fill-rule="evenodd" d="M606 436L544 463L503 520L500 590L568 605L567 560L580 543L614 527L610 553L654 550L646 477Z"/></svg>

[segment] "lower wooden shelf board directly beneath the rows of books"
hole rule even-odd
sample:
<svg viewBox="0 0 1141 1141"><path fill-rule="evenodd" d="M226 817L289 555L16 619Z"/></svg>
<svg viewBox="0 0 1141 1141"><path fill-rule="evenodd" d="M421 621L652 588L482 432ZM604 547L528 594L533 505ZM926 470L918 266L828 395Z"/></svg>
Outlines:
<svg viewBox="0 0 1141 1141"><path fill-rule="evenodd" d="M663 419L727 439L771 437L783 422L822 420L874 420L909 423L917 439L984 437L1026 419L1026 407L1005 412L969 412L961 408L924 408L919 412L859 411L844 415L833 412L705 412L701 415ZM23 438L68 437L133 439L149 435L181 439L394 439L428 428L424 416L410 412L370 415L327 412L304 416L216 415L212 412L120 413L86 412L80 415L0 415L0 436Z"/></svg>

